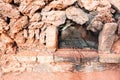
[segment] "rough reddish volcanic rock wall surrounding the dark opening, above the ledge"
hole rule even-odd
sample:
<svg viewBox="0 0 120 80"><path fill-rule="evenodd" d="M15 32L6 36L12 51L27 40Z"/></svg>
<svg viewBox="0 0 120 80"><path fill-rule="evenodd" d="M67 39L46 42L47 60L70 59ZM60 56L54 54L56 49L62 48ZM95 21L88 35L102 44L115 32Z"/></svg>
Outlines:
<svg viewBox="0 0 120 80"><path fill-rule="evenodd" d="M64 30L74 23L84 39L87 31L100 34L100 53L120 53L119 4L120 0L0 0L0 52L50 46L54 40L48 37L57 39L56 28L62 25L65 38Z"/></svg>

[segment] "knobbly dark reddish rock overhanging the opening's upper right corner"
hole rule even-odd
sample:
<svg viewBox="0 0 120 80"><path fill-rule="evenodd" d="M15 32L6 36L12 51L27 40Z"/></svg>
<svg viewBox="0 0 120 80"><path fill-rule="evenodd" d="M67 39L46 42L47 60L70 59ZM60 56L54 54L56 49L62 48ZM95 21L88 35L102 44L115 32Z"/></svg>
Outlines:
<svg viewBox="0 0 120 80"><path fill-rule="evenodd" d="M90 24L87 27L87 30L98 32L102 30L104 23L111 23L114 21L115 19L113 18L113 15L111 14L110 9L103 10L103 11L98 12L98 14L94 16L92 20L90 20Z"/></svg>

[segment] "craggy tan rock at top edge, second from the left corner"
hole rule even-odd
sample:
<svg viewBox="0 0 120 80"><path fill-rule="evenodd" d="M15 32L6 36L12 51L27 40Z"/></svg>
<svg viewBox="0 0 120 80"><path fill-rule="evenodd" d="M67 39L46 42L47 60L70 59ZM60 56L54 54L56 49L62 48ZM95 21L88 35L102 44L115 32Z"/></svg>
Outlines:
<svg viewBox="0 0 120 80"><path fill-rule="evenodd" d="M45 3L43 0L22 1L19 6L19 11L31 17L37 10L41 9L44 5Z"/></svg>

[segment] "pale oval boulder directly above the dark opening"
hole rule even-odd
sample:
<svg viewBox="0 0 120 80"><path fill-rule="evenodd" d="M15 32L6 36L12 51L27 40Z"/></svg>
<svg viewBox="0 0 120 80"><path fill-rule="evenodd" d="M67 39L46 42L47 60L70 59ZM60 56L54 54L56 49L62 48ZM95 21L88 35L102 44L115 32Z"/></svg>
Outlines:
<svg viewBox="0 0 120 80"><path fill-rule="evenodd" d="M89 20L87 13L85 13L80 8L76 8L73 6L66 9L66 16L68 19L71 19L77 24L81 25Z"/></svg>

